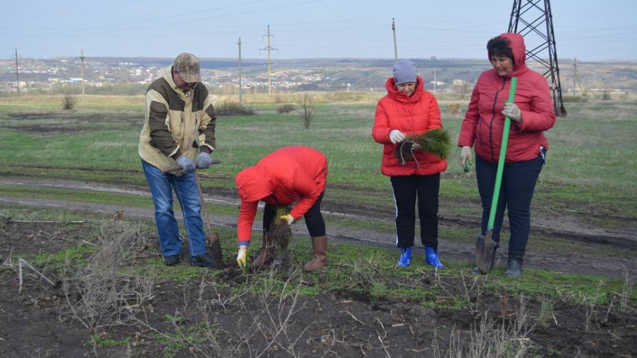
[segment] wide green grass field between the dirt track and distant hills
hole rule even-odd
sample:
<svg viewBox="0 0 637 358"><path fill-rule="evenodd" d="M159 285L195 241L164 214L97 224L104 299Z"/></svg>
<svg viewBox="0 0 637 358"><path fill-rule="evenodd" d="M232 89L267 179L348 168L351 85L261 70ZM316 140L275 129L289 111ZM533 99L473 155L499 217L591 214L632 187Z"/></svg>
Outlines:
<svg viewBox="0 0 637 358"><path fill-rule="evenodd" d="M62 112L60 97L0 99L0 170L14 172L12 166L46 166L45 172L51 173L73 168L139 170L136 148L142 105L141 97L88 97L86 109ZM392 205L389 196L386 201L375 197L388 194L390 188L379 172L382 146L371 139L375 103L369 98L360 103L317 103L316 118L308 130L297 113L277 114L271 103L252 107L264 110L256 116L217 120L214 157L223 164L210 170L216 175L215 186L232 188L236 172L262 155L280 146L303 144L323 151L329 159L330 200L366 203L371 199L377 205ZM637 103L573 103L567 110L569 116L558 118L547 132L549 155L536 204L554 209L562 209L555 206L557 202L585 204L602 212L616 208L621 216L637 218ZM450 116L443 110L442 121L452 140L458 138L462 114ZM458 153L454 146L440 196L451 203L476 201L475 180L462 175ZM96 172L94 178L86 179L100 180L101 175ZM145 183L138 173L118 177ZM375 194L372 198L351 194L358 190Z"/></svg>

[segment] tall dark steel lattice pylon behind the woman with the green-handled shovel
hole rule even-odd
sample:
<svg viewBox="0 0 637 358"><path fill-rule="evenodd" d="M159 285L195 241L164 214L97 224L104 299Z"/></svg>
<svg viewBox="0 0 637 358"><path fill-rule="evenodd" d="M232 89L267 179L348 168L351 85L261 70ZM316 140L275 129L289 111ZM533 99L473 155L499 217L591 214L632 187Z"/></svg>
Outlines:
<svg viewBox="0 0 637 358"><path fill-rule="evenodd" d="M508 32L517 32L524 36L527 58L532 58L547 68L543 75L553 92L555 115L566 116L549 0L514 0Z"/></svg>

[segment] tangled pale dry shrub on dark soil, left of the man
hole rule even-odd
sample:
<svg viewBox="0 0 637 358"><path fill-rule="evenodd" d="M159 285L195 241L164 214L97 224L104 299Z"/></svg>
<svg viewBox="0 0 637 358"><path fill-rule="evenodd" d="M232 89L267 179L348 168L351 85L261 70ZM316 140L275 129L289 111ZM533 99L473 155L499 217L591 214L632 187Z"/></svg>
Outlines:
<svg viewBox="0 0 637 358"><path fill-rule="evenodd" d="M153 297L154 280L126 272L148 245L138 227L125 222L105 222L97 227L95 251L86 265L64 268L62 288L71 316L91 331L134 323L134 316Z"/></svg>

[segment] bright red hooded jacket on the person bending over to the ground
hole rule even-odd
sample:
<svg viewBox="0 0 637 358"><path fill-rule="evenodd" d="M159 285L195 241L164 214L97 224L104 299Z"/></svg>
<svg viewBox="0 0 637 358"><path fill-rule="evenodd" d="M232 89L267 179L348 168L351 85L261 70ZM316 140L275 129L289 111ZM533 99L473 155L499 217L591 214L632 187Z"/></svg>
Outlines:
<svg viewBox="0 0 637 358"><path fill-rule="evenodd" d="M298 201L290 215L301 218L325 190L327 158L309 146L284 146L240 171L236 188L241 198L237 223L238 241L250 241L252 223L260 200L271 205Z"/></svg>

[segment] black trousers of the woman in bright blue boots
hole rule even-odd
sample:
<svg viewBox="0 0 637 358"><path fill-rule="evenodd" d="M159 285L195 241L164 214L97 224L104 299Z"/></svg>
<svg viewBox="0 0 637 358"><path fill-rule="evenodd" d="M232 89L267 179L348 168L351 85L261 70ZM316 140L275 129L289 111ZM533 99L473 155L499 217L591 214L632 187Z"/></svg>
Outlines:
<svg viewBox="0 0 637 358"><path fill-rule="evenodd" d="M414 246L416 199L421 220L421 242L438 248L438 192L440 174L390 177L396 204L396 246Z"/></svg>

